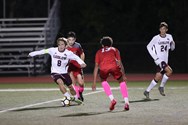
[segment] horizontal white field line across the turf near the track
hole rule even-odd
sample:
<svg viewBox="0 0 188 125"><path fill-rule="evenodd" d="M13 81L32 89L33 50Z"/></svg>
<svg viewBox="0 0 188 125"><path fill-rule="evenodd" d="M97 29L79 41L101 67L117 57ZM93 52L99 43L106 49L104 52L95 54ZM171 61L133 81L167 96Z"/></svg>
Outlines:
<svg viewBox="0 0 188 125"><path fill-rule="evenodd" d="M117 89L119 87L111 87L112 89ZM166 89L187 89L188 87L167 87ZM128 90L144 90L143 87L128 87ZM156 89L156 88L154 88ZM84 90L91 90L91 88L84 88ZM103 90L99 87L97 90ZM37 91L59 91L58 88L30 88L30 89L0 89L0 92L37 92Z"/></svg>

